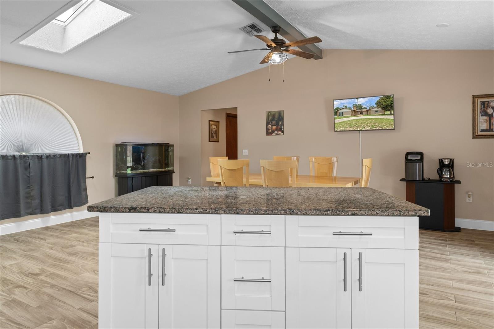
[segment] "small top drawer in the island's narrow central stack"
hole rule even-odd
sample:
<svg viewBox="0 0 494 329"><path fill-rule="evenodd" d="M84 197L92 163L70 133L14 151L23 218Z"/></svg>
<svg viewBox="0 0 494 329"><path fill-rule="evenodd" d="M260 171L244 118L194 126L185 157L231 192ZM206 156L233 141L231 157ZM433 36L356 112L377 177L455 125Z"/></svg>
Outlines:
<svg viewBox="0 0 494 329"><path fill-rule="evenodd" d="M221 215L223 246L285 246L285 216Z"/></svg>

